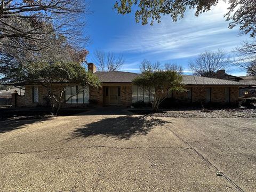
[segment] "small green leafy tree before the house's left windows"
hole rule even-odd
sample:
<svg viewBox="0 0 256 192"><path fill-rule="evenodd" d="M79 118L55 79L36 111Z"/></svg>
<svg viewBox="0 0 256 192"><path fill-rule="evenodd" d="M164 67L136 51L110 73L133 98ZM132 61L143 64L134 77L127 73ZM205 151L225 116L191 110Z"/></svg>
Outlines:
<svg viewBox="0 0 256 192"><path fill-rule="evenodd" d="M77 62L31 63L27 71L27 81L46 87L52 113L55 115L58 114L61 102L64 101L63 94L66 91L67 85L79 84L82 87L90 86L95 88L101 86L98 77L86 71ZM60 92L53 91L54 83L60 84ZM78 90L78 93L82 91L82 89ZM66 101L73 96L71 95L69 98L66 98Z"/></svg>

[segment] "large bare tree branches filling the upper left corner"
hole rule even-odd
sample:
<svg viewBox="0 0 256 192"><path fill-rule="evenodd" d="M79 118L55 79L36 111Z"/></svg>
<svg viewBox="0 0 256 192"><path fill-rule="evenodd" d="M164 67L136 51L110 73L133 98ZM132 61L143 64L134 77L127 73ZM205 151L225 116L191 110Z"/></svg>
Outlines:
<svg viewBox="0 0 256 192"><path fill-rule="evenodd" d="M47 40L53 34L78 41L84 26L79 18L89 13L87 7L83 0L2 0L0 52L6 47L34 51L49 47ZM27 46L27 42L35 46Z"/></svg>

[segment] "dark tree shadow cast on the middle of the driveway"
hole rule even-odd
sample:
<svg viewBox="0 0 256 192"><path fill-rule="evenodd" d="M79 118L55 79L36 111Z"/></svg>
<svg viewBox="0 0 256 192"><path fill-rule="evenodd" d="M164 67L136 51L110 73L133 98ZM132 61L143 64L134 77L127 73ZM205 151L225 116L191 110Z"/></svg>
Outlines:
<svg viewBox="0 0 256 192"><path fill-rule="evenodd" d="M108 137L115 139L130 139L133 135L147 135L155 125L165 122L159 119L146 119L141 116L119 116L101 119L100 121L86 124L72 133L72 138L77 137Z"/></svg>

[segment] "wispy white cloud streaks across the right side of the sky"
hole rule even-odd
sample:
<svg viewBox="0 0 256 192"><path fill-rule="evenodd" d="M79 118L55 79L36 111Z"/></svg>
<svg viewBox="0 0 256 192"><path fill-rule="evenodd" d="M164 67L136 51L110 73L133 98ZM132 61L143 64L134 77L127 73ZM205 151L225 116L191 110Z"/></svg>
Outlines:
<svg viewBox="0 0 256 192"><path fill-rule="evenodd" d="M245 37L238 36L238 29L228 29L223 17L227 7L222 2L198 18L194 10L189 10L176 23L165 16L160 24L136 26L116 36L108 49L145 57L154 55L158 60L194 57L205 49L230 51Z"/></svg>

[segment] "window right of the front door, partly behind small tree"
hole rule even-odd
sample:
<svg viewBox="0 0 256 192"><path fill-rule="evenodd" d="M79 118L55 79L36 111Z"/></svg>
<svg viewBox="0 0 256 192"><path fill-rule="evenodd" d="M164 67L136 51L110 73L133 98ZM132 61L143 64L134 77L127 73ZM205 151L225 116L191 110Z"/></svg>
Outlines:
<svg viewBox="0 0 256 192"><path fill-rule="evenodd" d="M132 86L132 102L137 101L144 101L144 102L150 102L154 100L154 88L150 89L142 89L141 87L138 87L136 85ZM153 94L151 94L153 93Z"/></svg>

